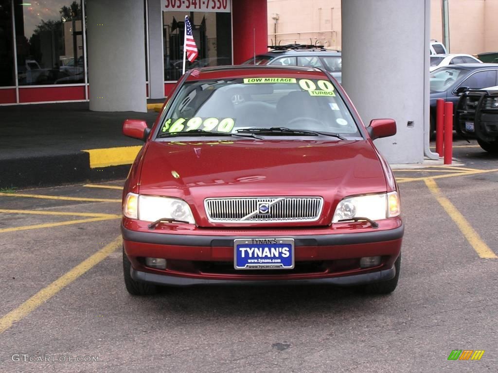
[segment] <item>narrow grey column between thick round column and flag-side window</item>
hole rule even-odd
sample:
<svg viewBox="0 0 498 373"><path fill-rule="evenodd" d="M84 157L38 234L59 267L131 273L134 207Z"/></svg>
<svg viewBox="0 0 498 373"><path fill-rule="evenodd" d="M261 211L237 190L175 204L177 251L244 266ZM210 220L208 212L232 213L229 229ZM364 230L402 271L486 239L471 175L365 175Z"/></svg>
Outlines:
<svg viewBox="0 0 498 373"><path fill-rule="evenodd" d="M148 0L150 98L164 98L164 54L161 0Z"/></svg>

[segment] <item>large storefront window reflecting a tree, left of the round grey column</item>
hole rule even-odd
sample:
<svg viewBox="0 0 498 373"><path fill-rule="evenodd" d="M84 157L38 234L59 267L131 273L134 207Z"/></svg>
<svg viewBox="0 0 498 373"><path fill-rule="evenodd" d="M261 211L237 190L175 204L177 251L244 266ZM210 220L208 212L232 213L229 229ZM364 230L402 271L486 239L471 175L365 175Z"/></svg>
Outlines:
<svg viewBox="0 0 498 373"><path fill-rule="evenodd" d="M81 1L13 1L19 86L85 83Z"/></svg>

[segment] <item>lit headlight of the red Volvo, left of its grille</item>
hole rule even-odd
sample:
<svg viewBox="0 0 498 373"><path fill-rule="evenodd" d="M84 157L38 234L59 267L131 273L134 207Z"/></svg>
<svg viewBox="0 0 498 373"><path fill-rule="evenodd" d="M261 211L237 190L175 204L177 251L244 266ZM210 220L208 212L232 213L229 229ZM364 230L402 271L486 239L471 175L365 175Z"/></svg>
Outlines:
<svg viewBox="0 0 498 373"><path fill-rule="evenodd" d="M143 221L175 219L195 224L189 205L178 198L128 193L124 201L123 213L130 219Z"/></svg>

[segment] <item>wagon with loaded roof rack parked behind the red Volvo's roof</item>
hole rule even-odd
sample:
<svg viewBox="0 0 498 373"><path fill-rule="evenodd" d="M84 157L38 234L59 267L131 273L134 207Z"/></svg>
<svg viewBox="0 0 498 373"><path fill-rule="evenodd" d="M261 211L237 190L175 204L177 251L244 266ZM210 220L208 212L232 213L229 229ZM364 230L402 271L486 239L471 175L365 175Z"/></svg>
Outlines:
<svg viewBox="0 0 498 373"><path fill-rule="evenodd" d="M341 52L326 50L322 46L288 44L264 54L258 54L243 62L243 65L304 66L327 70L341 83Z"/></svg>

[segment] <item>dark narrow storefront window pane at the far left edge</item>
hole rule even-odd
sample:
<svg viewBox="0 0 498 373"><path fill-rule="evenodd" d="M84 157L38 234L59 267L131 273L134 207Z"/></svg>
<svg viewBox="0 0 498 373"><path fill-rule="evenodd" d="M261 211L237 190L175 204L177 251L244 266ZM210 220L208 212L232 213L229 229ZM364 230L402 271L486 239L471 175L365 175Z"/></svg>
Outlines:
<svg viewBox="0 0 498 373"><path fill-rule="evenodd" d="M0 87L15 86L12 4L0 0Z"/></svg>

